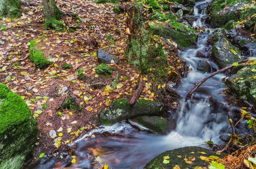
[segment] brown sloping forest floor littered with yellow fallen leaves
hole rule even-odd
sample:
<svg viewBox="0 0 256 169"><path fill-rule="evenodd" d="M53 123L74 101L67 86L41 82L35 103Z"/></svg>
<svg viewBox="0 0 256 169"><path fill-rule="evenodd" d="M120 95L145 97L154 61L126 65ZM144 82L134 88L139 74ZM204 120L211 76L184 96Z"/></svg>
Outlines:
<svg viewBox="0 0 256 169"><path fill-rule="evenodd" d="M82 133L99 125L98 114L111 101L120 97L131 97L138 83L138 71L126 62L125 33L126 14L116 14L114 4L96 4L91 1L58 0L57 5L63 12L76 13L84 22L64 15L67 28L79 25L73 33L70 31L44 30L43 7L40 1L31 1L31 6L22 6L23 13L18 19L5 18L0 24L0 82L5 83L29 105L38 122L39 135L35 159L39 154L52 154L67 151L71 143ZM38 5L37 5L38 4ZM124 3L125 5L125 3ZM37 69L29 60L30 40L40 39L45 56L53 63L46 69ZM97 50L101 48L115 55L119 64L111 76L97 75L94 68L100 63ZM182 67L177 57L177 48L173 50L173 70ZM168 58L168 59L170 59ZM71 69L63 70L70 63ZM180 63L180 64L177 64ZM83 69L86 78L77 78L78 69ZM117 74L120 79L117 88L110 86ZM154 100L156 93L163 90L165 84L158 84L144 78L146 85L141 93L144 99ZM104 82L105 86L93 90L89 84ZM160 88L159 88L160 85ZM65 98L72 96L80 104L80 113L60 109ZM172 106L177 106L173 101ZM56 132L55 138L50 131Z"/></svg>

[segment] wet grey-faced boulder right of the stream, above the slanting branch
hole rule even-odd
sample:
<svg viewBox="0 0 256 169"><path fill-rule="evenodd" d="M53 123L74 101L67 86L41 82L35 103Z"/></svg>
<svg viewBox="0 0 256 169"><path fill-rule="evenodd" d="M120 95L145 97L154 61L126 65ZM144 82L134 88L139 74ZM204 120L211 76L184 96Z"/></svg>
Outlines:
<svg viewBox="0 0 256 169"><path fill-rule="evenodd" d="M227 40L222 31L217 32L214 36L212 57L220 68L224 68L227 65L240 60L235 46Z"/></svg>

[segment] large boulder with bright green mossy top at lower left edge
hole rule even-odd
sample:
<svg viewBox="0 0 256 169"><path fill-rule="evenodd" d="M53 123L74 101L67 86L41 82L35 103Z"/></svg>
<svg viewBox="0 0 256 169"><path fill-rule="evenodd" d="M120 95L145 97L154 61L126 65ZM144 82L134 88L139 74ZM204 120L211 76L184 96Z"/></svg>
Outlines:
<svg viewBox="0 0 256 169"><path fill-rule="evenodd" d="M0 83L0 169L21 169L37 140L37 121L20 96Z"/></svg>

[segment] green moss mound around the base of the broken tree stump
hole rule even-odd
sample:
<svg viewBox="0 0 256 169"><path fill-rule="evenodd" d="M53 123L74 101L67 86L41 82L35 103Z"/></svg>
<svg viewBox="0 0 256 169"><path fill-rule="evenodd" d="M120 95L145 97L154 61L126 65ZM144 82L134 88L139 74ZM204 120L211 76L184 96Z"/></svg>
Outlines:
<svg viewBox="0 0 256 169"><path fill-rule="evenodd" d="M157 80L161 80L166 77L168 70L165 51L162 49L162 44L152 37L149 30L142 28L141 31L141 37L130 41L125 55L128 62L133 63L136 69L141 69L144 74L153 73Z"/></svg>

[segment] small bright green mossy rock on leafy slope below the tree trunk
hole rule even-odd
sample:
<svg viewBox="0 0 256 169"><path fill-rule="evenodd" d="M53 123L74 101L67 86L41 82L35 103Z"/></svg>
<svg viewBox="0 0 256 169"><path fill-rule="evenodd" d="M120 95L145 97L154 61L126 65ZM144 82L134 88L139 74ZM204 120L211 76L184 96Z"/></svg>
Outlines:
<svg viewBox="0 0 256 169"><path fill-rule="evenodd" d="M29 45L30 60L37 68L47 68L50 62L44 57L44 51L39 48L38 40L31 40Z"/></svg>

